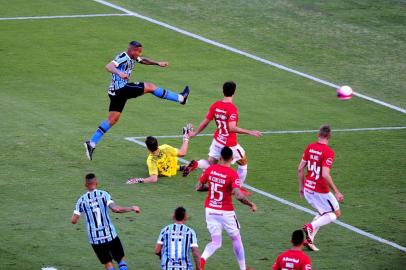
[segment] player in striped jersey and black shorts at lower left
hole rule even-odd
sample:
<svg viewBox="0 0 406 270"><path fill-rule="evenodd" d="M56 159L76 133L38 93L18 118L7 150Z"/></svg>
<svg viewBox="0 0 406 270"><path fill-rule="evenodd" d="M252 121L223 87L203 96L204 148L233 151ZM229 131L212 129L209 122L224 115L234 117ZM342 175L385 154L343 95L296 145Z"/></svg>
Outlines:
<svg viewBox="0 0 406 270"><path fill-rule="evenodd" d="M110 220L109 208L114 213L140 212L138 206L121 207L114 203L109 193L97 189L97 179L92 173L85 177L87 192L76 203L71 218L76 224L82 214L86 218L86 230L89 242L100 262L107 270L114 270L113 258L120 270L127 270L124 249L116 229Z"/></svg>

